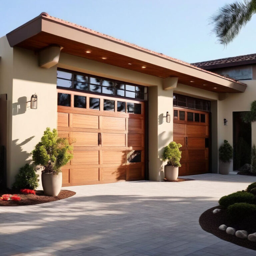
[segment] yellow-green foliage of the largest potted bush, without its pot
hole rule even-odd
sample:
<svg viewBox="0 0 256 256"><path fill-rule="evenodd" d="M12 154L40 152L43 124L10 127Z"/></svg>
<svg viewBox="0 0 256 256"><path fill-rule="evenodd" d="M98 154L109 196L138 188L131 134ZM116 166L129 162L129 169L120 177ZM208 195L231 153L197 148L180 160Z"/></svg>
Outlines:
<svg viewBox="0 0 256 256"><path fill-rule="evenodd" d="M41 141L37 143L32 151L32 158L36 165L43 166L42 172L57 174L61 171L60 168L73 158L71 150L73 150L73 147L68 139L59 138L56 129L51 131L47 127Z"/></svg>

